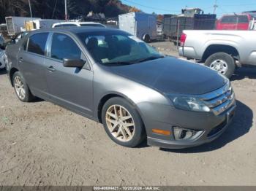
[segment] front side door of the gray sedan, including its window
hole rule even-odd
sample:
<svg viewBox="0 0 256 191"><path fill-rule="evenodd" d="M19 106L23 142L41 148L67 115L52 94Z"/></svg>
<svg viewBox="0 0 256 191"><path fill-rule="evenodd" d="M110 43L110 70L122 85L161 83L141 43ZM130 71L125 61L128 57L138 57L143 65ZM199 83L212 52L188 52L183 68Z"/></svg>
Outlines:
<svg viewBox="0 0 256 191"><path fill-rule="evenodd" d="M45 62L50 98L75 112L91 116L93 71L63 66L64 58L87 60L80 45L72 36L61 33L52 34L50 42Z"/></svg>

